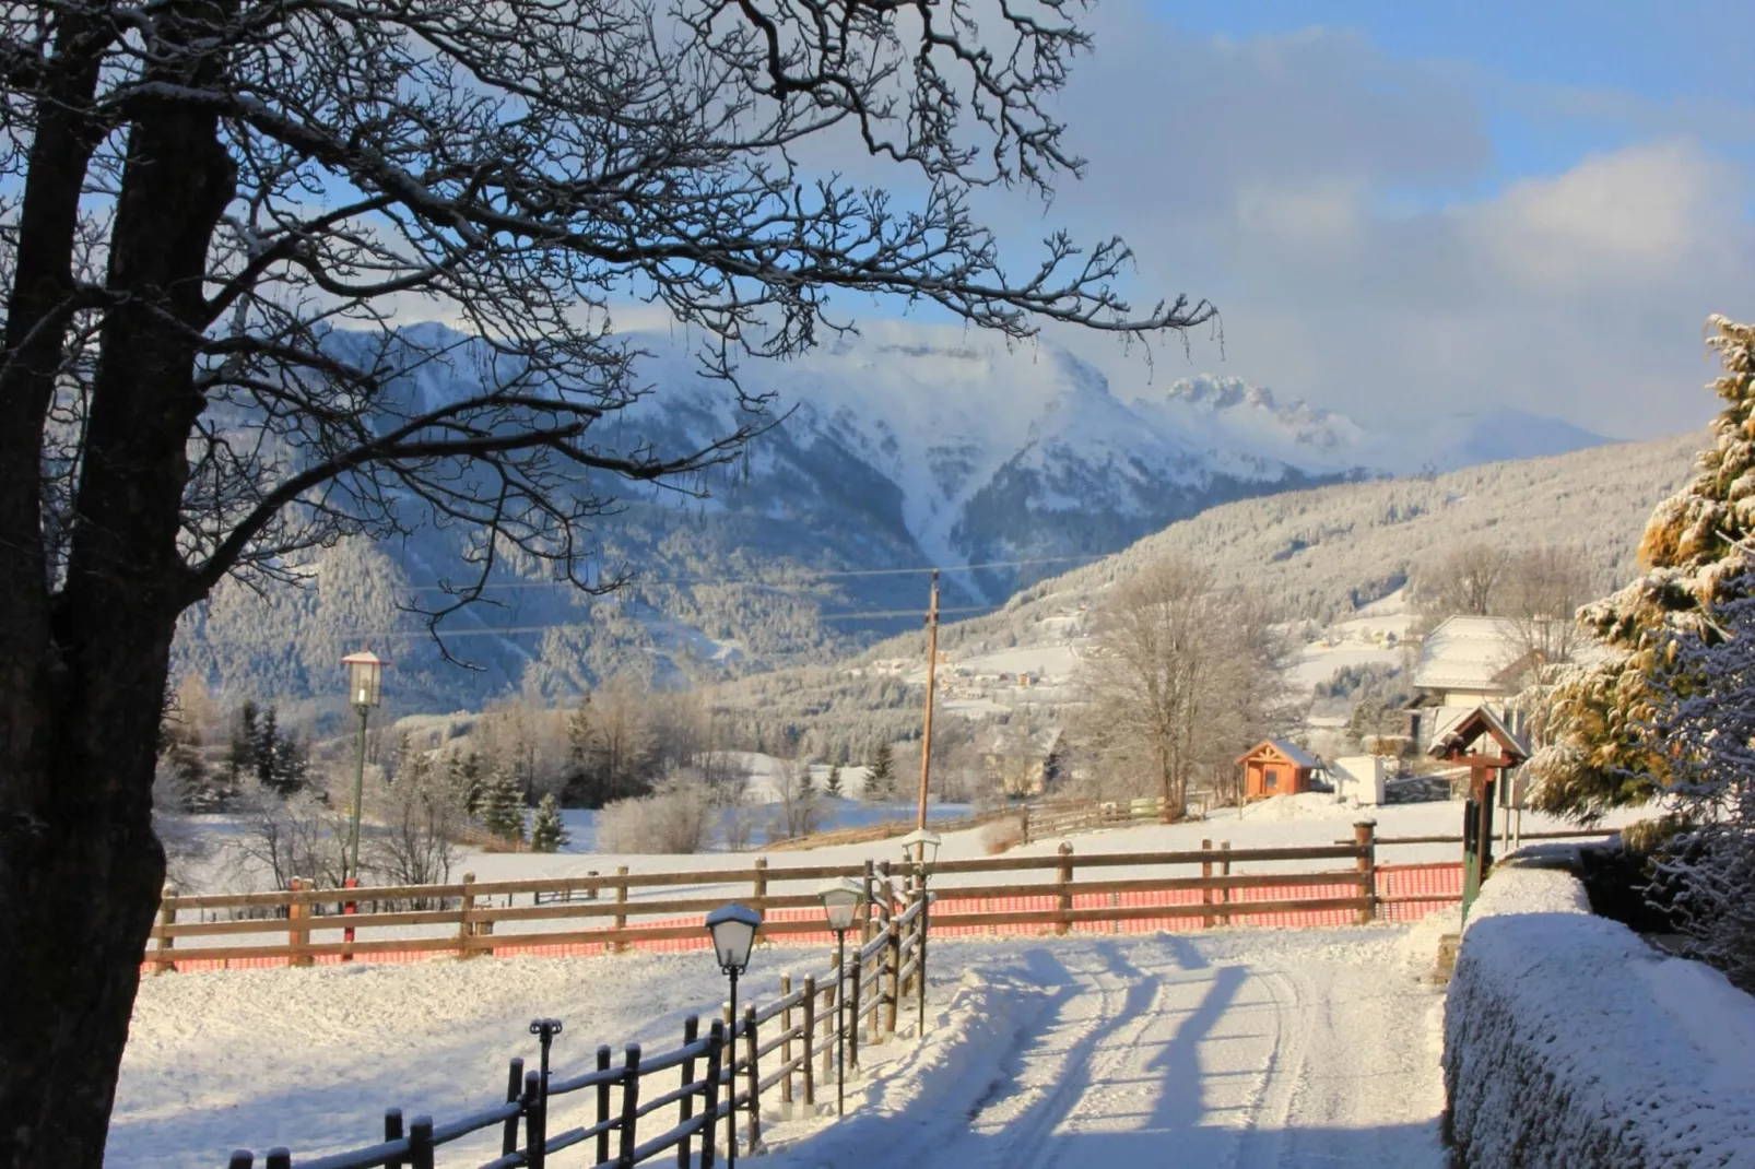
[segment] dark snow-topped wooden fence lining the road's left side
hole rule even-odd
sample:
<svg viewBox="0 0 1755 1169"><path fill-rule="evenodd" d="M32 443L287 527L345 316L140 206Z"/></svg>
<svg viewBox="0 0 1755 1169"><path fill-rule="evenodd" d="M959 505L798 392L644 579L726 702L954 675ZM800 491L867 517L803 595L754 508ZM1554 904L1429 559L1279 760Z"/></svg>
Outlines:
<svg viewBox="0 0 1755 1169"><path fill-rule="evenodd" d="M500 1155L488 1160L483 1169L514 1165L542 1169L553 1153L593 1144L591 1164L597 1165L637 1165L674 1148L677 1165L707 1167L714 1164L718 1122L725 1120L725 1146L732 1148L737 1143L739 1115L744 1123L744 1148L755 1150L762 1139L765 1094L777 1090L783 1108L792 1106L795 1099L807 1109L816 1108L818 1076L827 1081L834 1065L839 995L846 995L849 1067L858 1067L862 1025L867 1043L895 1037L897 1006L916 990L914 979L920 978L923 948L920 897L913 897L906 909L897 911L893 893L893 886L886 886L885 897L876 902L878 913L865 914L863 941L848 955L844 969L830 964L821 981L814 974L806 976L797 990L792 986L792 976L783 974L776 1000L748 1004L737 1020L730 1018L727 1004L725 1018L713 1020L706 1036L700 1034L698 1016L691 1015L683 1023L683 1043L670 1051L648 1057L641 1051L641 1044L630 1043L623 1048L621 1065L614 1067L612 1050L604 1044L597 1048L595 1069L555 1076L548 1065L549 1043L562 1027L556 1020L535 1020L530 1030L541 1036L541 1069L525 1071L521 1058L511 1060L504 1104L446 1123L435 1123L432 1116L416 1116L405 1130L402 1109L391 1108L384 1111L383 1141L347 1153L300 1158L297 1165L298 1169L432 1169L439 1146L498 1129ZM695 929L700 929L698 923ZM767 930L769 925L763 923L762 929ZM739 1055L739 1037L742 1055ZM774 1065L763 1071L770 1058ZM672 1069L679 1069L674 1088L665 1090L649 1083L653 1076ZM586 1094L586 1101L595 1095L591 1123L551 1136L549 1102L576 1092ZM648 1118L670 1108L676 1108L676 1123L653 1132L653 1125L662 1120ZM253 1169L256 1157L249 1150L239 1150L226 1164L228 1169ZM295 1158L290 1150L274 1148L263 1157L263 1164L267 1169L293 1169Z"/></svg>

